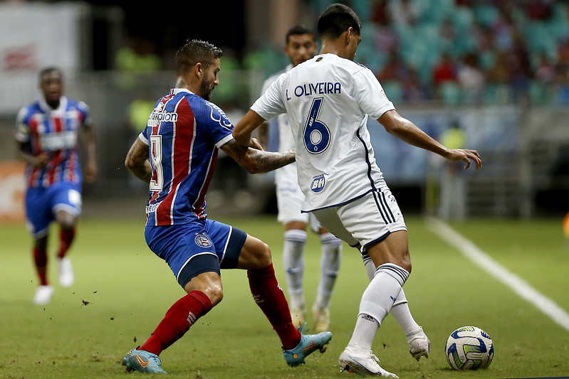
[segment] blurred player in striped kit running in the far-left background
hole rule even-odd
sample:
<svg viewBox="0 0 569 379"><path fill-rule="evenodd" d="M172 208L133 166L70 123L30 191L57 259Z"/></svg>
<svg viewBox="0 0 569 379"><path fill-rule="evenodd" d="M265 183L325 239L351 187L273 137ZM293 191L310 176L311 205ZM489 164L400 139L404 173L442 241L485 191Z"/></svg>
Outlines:
<svg viewBox="0 0 569 379"><path fill-rule="evenodd" d="M87 147L85 180L95 180L97 161L89 107L63 96L63 73L59 68L41 70L39 82L43 98L20 110L16 142L27 164L26 218L34 238L33 259L39 278L33 302L47 304L53 295L47 279L46 252L48 226L53 220L61 228L57 254L59 282L70 287L74 281L67 252L81 212L80 131Z"/></svg>

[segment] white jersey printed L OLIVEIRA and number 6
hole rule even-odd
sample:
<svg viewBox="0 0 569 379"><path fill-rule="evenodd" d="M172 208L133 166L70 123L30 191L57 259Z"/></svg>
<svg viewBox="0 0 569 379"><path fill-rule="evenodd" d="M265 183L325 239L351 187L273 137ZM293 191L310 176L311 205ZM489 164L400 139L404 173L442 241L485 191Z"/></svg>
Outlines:
<svg viewBox="0 0 569 379"><path fill-rule="evenodd" d="M316 55L292 68L251 106L263 119L288 114L306 212L377 188L383 174L367 117L378 119L394 109L371 70L335 54Z"/></svg>

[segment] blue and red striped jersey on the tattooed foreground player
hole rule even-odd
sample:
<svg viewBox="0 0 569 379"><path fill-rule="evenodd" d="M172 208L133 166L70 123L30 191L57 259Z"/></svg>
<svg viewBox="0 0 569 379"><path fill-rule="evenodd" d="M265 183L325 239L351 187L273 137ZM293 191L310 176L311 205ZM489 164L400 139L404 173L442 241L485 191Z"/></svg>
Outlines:
<svg viewBox="0 0 569 379"><path fill-rule="evenodd" d="M206 218L206 193L219 147L233 125L212 102L175 88L158 100L140 134L148 145L152 179L146 225L177 225Z"/></svg>

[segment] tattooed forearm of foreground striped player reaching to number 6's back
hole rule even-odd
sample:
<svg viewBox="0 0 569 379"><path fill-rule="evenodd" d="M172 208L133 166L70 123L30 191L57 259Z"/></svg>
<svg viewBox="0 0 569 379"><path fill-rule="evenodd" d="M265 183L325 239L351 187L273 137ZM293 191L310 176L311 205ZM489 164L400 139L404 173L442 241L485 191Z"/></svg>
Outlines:
<svg viewBox="0 0 569 379"><path fill-rule="evenodd" d="M259 145L259 142L256 142L256 139L249 139L247 146L241 146L234 139L231 139L231 141L221 146L221 150L225 151L227 155L235 159L241 167L251 174L280 169L282 166L295 161L295 152L293 150L282 152L264 151L258 147L250 147L252 144Z"/></svg>

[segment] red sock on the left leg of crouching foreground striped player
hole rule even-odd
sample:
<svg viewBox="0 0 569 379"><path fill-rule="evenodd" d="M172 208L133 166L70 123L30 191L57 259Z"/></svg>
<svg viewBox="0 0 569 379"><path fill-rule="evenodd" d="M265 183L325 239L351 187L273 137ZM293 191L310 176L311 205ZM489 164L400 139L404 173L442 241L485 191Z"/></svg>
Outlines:
<svg viewBox="0 0 569 379"><path fill-rule="evenodd" d="M212 308L212 301L206 294L190 292L170 306L164 319L140 349L160 355L162 350L182 338L189 327Z"/></svg>

